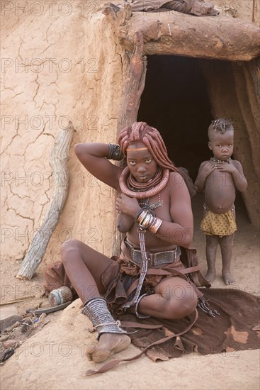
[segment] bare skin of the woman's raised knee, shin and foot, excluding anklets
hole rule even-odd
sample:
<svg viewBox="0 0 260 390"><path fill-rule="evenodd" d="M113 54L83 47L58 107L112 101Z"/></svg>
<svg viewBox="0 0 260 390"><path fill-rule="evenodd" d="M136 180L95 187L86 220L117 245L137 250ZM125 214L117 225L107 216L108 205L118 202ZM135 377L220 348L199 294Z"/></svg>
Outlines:
<svg viewBox="0 0 260 390"><path fill-rule="evenodd" d="M101 275L113 260L78 240L64 243L61 254L64 269L83 304L104 294ZM125 350L130 342L128 335L102 333L86 350L94 362L103 362L115 352Z"/></svg>

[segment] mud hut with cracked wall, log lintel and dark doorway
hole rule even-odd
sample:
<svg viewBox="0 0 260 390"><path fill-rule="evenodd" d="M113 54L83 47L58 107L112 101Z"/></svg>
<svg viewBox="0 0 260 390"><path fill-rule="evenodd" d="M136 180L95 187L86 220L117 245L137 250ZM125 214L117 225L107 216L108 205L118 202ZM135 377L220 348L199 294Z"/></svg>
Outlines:
<svg viewBox="0 0 260 390"><path fill-rule="evenodd" d="M116 1L115 3L118 3ZM132 13L106 1L4 1L2 7L2 255L23 260L56 184L69 184L46 262L77 238L110 255L115 193L84 172L73 145L114 142L132 121L159 128L193 179L209 156L211 119L230 118L243 195L259 226L259 28L257 3L215 1L220 15ZM57 134L72 122L67 175L50 167ZM91 197L91 202L89 198ZM96 207L93 207L93 199ZM101 201L102 199L102 201ZM104 201L106 199L106 201ZM50 232L45 232L50 234Z"/></svg>

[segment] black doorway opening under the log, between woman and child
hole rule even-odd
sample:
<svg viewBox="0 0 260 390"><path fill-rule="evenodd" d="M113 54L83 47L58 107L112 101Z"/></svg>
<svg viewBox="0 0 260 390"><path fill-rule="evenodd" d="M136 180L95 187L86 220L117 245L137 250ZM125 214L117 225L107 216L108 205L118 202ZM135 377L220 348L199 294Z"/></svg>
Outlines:
<svg viewBox="0 0 260 390"><path fill-rule="evenodd" d="M138 121L157 128L176 167L196 179L200 162L211 157L208 126L212 121L200 60L172 55L147 56L147 77Z"/></svg>

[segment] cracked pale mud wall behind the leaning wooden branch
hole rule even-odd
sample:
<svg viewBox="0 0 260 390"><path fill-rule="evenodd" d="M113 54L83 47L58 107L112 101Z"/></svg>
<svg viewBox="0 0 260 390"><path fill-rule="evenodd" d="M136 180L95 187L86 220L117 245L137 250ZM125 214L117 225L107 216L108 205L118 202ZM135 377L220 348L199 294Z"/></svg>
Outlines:
<svg viewBox="0 0 260 390"><path fill-rule="evenodd" d="M115 141L123 52L98 6L103 1L5 1L1 13L1 257L22 260L54 192L50 151L74 126L69 194L45 253L60 259L77 238L110 255L113 190L79 164L75 143ZM35 5L33 5L35 4ZM41 4L42 8L40 8ZM92 4L92 5L91 5Z"/></svg>

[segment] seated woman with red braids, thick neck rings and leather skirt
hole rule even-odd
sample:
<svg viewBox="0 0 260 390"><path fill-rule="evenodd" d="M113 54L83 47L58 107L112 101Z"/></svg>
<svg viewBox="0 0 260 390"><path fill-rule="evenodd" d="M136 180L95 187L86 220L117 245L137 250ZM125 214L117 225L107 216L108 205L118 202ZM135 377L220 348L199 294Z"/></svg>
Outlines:
<svg viewBox="0 0 260 390"><path fill-rule="evenodd" d="M159 131L147 123L121 130L118 144L77 144L75 153L89 172L118 191L118 230L125 233L120 259L78 240L62 245L64 269L98 335L95 350L89 351L94 362L130 345L111 313L176 320L192 313L198 301L179 272L184 269L180 247L188 248L193 239L191 198L183 177L169 160ZM109 161L124 156L125 168Z"/></svg>

